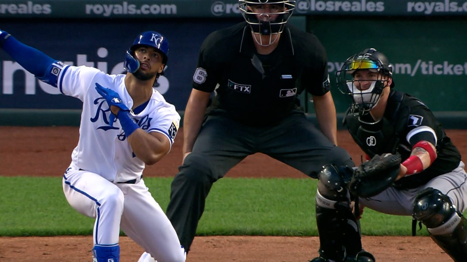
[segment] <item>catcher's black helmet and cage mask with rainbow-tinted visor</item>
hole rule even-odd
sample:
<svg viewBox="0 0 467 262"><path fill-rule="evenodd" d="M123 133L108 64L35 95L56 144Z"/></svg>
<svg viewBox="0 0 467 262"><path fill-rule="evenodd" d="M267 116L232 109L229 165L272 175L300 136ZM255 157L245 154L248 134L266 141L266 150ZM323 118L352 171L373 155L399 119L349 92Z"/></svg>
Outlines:
<svg viewBox="0 0 467 262"><path fill-rule="evenodd" d="M377 77L355 79L355 73L365 69L377 73ZM361 115L368 113L378 103L389 77L392 79L392 65L389 64L388 58L375 48L352 55L344 62L342 69L336 72L337 87L343 94L352 97L352 109ZM368 83L368 88L361 88ZM394 82L390 87L394 87Z"/></svg>

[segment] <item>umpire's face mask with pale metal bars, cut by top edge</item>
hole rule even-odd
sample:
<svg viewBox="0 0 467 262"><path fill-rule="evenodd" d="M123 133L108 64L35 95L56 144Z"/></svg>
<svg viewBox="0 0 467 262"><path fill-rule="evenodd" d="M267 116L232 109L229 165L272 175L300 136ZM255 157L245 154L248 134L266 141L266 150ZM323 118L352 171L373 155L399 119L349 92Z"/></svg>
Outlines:
<svg viewBox="0 0 467 262"><path fill-rule="evenodd" d="M239 0L238 3L251 32L257 36L269 35L269 41L265 42L261 37L255 37L262 46L269 46L277 40L295 9L295 0Z"/></svg>

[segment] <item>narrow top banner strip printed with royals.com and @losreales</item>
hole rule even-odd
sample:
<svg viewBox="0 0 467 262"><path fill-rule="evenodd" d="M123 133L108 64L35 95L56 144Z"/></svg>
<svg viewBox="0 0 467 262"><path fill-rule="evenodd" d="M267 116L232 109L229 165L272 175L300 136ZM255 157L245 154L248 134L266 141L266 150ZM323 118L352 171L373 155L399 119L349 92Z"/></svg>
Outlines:
<svg viewBox="0 0 467 262"><path fill-rule="evenodd" d="M0 18L236 17L237 0L0 0ZM466 16L467 0L297 0L295 15Z"/></svg>

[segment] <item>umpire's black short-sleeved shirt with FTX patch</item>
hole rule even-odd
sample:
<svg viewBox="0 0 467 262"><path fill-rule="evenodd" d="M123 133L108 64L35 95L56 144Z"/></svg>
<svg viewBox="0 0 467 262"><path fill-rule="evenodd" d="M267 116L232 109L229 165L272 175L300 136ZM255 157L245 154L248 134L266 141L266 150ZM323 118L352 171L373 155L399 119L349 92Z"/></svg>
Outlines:
<svg viewBox="0 0 467 262"><path fill-rule="evenodd" d="M274 36L273 36L274 38ZM278 46L259 55L246 22L208 35L203 42L193 88L215 91L210 110L243 124L274 124L299 107L303 90L329 91L325 48L318 38L286 26Z"/></svg>

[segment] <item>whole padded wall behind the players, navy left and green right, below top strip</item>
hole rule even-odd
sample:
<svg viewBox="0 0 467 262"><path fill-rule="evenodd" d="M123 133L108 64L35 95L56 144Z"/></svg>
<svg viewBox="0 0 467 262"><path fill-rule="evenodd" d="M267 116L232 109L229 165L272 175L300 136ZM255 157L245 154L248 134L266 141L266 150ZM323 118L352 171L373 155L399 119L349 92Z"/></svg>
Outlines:
<svg viewBox="0 0 467 262"><path fill-rule="evenodd" d="M123 72L125 50L137 34L159 31L169 39L170 52L165 75L156 89L183 115L201 42L212 31L240 21L241 16L163 20L2 18L0 27L54 59L110 74ZM339 121L349 101L335 87L335 71L349 55L375 47L394 62L396 88L422 99L446 128L467 129L465 17L293 16L290 23L314 32L326 47ZM365 30L358 29L361 26ZM301 94L300 98L311 121L316 121L310 97ZM0 125L78 125L81 106L81 101L38 81L0 50Z"/></svg>

